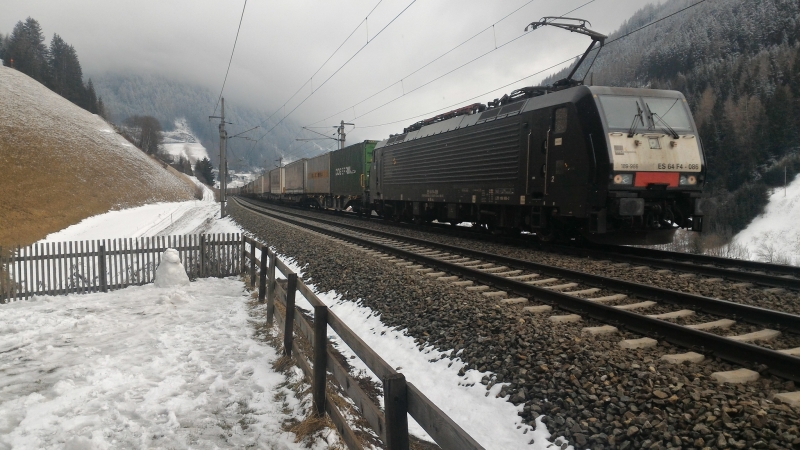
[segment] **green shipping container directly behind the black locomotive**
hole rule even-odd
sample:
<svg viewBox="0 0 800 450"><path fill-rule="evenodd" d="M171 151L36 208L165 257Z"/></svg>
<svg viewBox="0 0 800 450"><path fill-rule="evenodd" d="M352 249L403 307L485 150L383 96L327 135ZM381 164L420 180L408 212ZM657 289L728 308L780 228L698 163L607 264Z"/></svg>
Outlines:
<svg viewBox="0 0 800 450"><path fill-rule="evenodd" d="M364 141L331 152L331 193L361 196L369 187L372 150L378 141Z"/></svg>

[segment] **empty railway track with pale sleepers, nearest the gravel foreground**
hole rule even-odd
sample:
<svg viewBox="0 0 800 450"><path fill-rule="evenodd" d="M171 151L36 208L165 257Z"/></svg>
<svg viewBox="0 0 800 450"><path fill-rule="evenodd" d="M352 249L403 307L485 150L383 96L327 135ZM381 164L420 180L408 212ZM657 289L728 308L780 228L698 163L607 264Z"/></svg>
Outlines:
<svg viewBox="0 0 800 450"><path fill-rule="evenodd" d="M596 320L603 324L585 327L583 331L589 335L615 333L621 327L645 336L622 341L622 347L648 347L665 340L690 350L664 355L665 360L696 361L704 354L712 354L744 367L800 381L800 317L796 315L320 218L311 223L307 216L297 213L276 212L249 201L237 201L261 214L368 247L368 254L496 298L503 307L521 308L521 314L553 314L562 310L569 314L552 315L550 320ZM653 309L657 310L655 314ZM676 323L692 319L697 319L696 323ZM747 332L732 336L716 334L735 331L742 324L748 325L744 326ZM775 350L765 345L785 348ZM758 374L740 371L739 375L757 377ZM733 374L719 375L726 376Z"/></svg>

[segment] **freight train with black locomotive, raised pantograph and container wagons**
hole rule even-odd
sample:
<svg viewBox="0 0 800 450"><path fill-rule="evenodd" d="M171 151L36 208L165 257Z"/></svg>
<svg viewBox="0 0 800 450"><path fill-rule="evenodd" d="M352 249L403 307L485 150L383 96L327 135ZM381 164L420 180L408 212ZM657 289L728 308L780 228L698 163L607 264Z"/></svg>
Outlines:
<svg viewBox="0 0 800 450"><path fill-rule="evenodd" d="M585 86L574 72L274 169L246 194L544 241L662 244L702 231L706 164L683 94Z"/></svg>

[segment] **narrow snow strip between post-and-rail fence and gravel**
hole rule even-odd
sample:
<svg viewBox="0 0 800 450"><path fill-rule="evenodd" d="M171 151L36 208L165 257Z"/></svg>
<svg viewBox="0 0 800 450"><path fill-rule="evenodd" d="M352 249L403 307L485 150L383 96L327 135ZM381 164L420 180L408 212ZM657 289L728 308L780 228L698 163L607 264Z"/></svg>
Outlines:
<svg viewBox="0 0 800 450"><path fill-rule="evenodd" d="M300 276L302 270L291 259L282 255L281 261ZM546 450L553 443L566 442L563 438L550 439L547 425L536 420L536 428L523 424L518 412L522 405L514 406L508 396L497 398L503 384L497 383L488 391L481 384L484 376L492 377L490 372L467 370L463 376L458 372L465 366L460 358L450 359L450 352L441 352L433 347L420 350L414 338L406 330L387 327L380 321L380 315L351 301L342 300L334 291L320 293L309 286L331 311L341 318L369 347L375 350L389 365L406 376L436 406L459 424L470 436L486 449L530 449ZM298 293L296 304L313 315L314 309L302 294ZM347 358L356 371L364 371L380 383L373 374L341 339L328 328L328 337L333 345ZM409 431L421 439L432 441L431 437L409 416ZM532 445L531 445L532 444ZM550 450L555 447L550 447ZM573 450L567 446L564 450Z"/></svg>

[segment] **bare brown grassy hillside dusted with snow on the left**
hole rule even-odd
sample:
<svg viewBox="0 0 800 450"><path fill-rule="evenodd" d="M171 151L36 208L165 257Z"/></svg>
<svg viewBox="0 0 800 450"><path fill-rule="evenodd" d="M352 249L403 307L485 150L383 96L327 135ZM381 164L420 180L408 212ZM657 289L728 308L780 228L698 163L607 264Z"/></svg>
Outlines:
<svg viewBox="0 0 800 450"><path fill-rule="evenodd" d="M115 208L194 198L194 184L93 115L0 66L0 245Z"/></svg>

